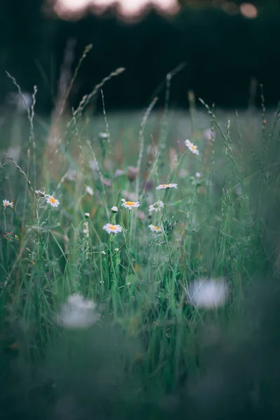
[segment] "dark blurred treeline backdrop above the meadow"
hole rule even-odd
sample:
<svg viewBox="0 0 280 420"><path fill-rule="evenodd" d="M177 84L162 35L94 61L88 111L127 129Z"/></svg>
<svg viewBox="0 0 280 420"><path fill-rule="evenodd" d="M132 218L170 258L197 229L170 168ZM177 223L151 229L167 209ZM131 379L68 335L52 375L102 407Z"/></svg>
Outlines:
<svg viewBox="0 0 280 420"><path fill-rule="evenodd" d="M86 0L65 0L69 9L75 2L82 6ZM133 2L135 7L141 3L125 0L123 4L131 7ZM71 91L70 106L122 66L125 73L104 87L106 109L144 107L166 74L181 63L186 66L172 80L174 107L188 107L189 90L220 107L246 107L250 100L258 105L260 83L267 106L275 106L280 87L279 0L175 2L178 12L173 10L172 15L151 8L133 20L121 18L116 7L99 15L89 10L69 15L55 1L2 0L0 104L5 105L15 91L6 77L8 71L23 92L38 86L37 112L49 113L67 43L73 55L72 71L85 45L92 43ZM162 101L163 97L164 92ZM100 101L97 111L101 107Z"/></svg>

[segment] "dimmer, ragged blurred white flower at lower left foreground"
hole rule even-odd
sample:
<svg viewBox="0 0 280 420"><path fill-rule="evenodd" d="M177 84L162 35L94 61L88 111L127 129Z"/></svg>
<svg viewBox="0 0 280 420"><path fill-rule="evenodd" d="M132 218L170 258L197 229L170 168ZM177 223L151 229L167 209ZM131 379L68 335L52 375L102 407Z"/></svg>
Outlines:
<svg viewBox="0 0 280 420"><path fill-rule="evenodd" d="M96 304L75 293L62 304L57 323L64 328L85 328L96 322L99 316L94 312Z"/></svg>

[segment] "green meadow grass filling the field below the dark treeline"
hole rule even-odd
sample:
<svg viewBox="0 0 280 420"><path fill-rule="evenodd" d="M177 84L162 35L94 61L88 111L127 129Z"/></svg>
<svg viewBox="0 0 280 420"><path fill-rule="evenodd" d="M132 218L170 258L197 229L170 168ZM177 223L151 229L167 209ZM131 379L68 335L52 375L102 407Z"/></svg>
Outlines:
<svg viewBox="0 0 280 420"><path fill-rule="evenodd" d="M261 323L248 295L279 276L279 113L150 111L2 123L6 418L262 418L263 377L230 372Z"/></svg>

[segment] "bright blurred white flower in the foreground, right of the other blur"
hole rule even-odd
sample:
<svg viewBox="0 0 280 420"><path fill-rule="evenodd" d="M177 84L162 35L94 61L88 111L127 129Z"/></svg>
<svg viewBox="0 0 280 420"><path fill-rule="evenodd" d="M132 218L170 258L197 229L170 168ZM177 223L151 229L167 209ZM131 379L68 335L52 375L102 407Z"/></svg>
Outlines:
<svg viewBox="0 0 280 420"><path fill-rule="evenodd" d="M206 309L223 306L229 295L228 283L224 279L198 279L185 290L191 304Z"/></svg>

